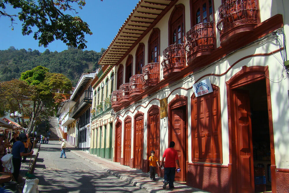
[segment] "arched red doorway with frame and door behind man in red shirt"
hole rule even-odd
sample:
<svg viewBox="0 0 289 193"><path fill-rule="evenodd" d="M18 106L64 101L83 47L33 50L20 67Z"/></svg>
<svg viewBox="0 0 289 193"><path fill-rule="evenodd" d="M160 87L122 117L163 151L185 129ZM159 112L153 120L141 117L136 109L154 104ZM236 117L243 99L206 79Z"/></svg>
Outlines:
<svg viewBox="0 0 289 193"><path fill-rule="evenodd" d="M181 172L176 173L175 181L186 181L186 161L188 157L186 151L188 146L187 101L188 99L186 96L176 95L168 104L168 143L170 143L170 141L175 141L175 150L178 152L179 163L182 168Z"/></svg>

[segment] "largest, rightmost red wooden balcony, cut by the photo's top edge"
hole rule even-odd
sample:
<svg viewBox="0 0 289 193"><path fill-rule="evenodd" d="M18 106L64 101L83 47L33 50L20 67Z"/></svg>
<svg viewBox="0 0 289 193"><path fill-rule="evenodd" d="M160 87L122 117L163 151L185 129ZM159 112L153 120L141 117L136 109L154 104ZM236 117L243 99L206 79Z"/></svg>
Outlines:
<svg viewBox="0 0 289 193"><path fill-rule="evenodd" d="M221 46L238 41L253 30L258 24L257 6L256 0L226 0L218 8Z"/></svg>

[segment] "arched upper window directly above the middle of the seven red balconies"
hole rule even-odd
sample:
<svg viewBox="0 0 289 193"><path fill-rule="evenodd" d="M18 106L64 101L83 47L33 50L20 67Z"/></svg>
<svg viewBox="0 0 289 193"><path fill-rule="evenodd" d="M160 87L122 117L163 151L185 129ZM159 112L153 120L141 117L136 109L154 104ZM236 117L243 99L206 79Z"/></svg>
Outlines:
<svg viewBox="0 0 289 193"><path fill-rule="evenodd" d="M158 62L160 56L160 30L154 29L149 37L149 63Z"/></svg>

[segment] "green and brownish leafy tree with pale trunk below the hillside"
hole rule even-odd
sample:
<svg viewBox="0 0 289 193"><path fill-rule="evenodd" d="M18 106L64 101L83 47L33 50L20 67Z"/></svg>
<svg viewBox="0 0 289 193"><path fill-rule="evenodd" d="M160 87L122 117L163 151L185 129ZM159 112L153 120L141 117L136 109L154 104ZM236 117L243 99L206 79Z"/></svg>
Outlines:
<svg viewBox="0 0 289 193"><path fill-rule="evenodd" d="M48 116L55 115L62 99L61 93L70 93L71 81L63 74L50 73L49 69L37 66L21 74L19 80L0 82L0 97L3 99L0 114L18 111L29 116L22 126L27 133L33 131Z"/></svg>

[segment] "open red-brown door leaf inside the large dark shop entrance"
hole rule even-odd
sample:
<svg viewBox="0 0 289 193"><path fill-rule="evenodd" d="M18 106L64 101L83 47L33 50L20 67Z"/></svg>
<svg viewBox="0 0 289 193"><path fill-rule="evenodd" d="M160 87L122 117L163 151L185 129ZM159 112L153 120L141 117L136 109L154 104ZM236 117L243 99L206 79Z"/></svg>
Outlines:
<svg viewBox="0 0 289 193"><path fill-rule="evenodd" d="M253 145L249 95L234 91L235 125L233 136L233 171L237 190L254 192ZM236 142L236 143L235 143ZM236 158L236 159L234 159Z"/></svg>

